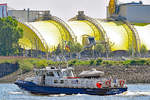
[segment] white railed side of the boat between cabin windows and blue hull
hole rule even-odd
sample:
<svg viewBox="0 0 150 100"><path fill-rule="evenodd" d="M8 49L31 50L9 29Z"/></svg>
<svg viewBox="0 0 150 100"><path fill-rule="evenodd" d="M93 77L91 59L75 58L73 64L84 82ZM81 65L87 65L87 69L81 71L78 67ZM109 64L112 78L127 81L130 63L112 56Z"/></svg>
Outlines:
<svg viewBox="0 0 150 100"><path fill-rule="evenodd" d="M107 81L108 84L106 84ZM102 87L123 87L126 83L124 80L121 79L85 79L85 78L76 78L76 79L64 79L64 78L46 78L45 84L47 86L54 86L54 87L68 87L68 88L98 88L96 84L100 82ZM121 82L121 83L120 83ZM42 77L36 79L36 83L42 85ZM123 85L122 85L123 84Z"/></svg>

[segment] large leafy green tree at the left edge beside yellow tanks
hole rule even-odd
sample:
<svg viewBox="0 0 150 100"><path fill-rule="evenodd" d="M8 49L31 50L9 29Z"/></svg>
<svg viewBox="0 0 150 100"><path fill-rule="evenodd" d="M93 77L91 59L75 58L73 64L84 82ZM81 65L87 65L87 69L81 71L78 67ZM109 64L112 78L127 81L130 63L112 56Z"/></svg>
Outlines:
<svg viewBox="0 0 150 100"><path fill-rule="evenodd" d="M23 30L18 27L17 20L12 17L0 18L0 55L14 55L22 36Z"/></svg>

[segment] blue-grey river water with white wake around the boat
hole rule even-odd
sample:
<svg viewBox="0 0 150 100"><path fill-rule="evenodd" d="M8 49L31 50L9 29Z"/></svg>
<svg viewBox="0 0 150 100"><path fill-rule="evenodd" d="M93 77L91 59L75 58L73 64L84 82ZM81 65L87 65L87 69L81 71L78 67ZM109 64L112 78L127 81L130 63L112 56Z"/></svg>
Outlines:
<svg viewBox="0 0 150 100"><path fill-rule="evenodd" d="M0 84L0 100L150 100L150 84L130 84L128 92L113 96L32 95L14 84Z"/></svg>

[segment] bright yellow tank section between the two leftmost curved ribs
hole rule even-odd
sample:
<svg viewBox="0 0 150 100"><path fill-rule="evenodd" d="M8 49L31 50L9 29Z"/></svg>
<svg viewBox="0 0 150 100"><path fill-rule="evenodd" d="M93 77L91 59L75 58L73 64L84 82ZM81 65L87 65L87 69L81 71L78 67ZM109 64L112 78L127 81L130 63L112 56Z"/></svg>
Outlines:
<svg viewBox="0 0 150 100"><path fill-rule="evenodd" d="M38 32L37 35L40 39L44 39L48 46L48 51L53 51L65 41L72 41L70 33L56 21L38 21L31 22L28 25Z"/></svg>

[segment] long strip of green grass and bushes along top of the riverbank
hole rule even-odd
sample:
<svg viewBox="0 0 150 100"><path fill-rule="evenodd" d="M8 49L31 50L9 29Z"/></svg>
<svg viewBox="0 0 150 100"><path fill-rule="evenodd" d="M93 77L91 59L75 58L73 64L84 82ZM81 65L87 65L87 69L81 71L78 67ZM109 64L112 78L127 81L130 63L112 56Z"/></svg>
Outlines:
<svg viewBox="0 0 150 100"><path fill-rule="evenodd" d="M34 68L44 68L46 66L66 66L66 62L54 62L51 60L45 59L36 59L36 58L14 58L14 59L0 59L1 63L10 63L10 64L18 64L19 68L23 72L31 71ZM91 60L78 60L73 59L68 61L68 65L72 67L76 66L101 66L101 67L109 67L109 66L146 66L150 65L150 59L134 59L134 60L125 60L125 61L112 61L112 60L102 60L101 58L98 59L91 59Z"/></svg>

